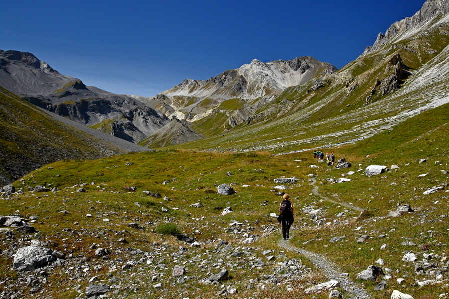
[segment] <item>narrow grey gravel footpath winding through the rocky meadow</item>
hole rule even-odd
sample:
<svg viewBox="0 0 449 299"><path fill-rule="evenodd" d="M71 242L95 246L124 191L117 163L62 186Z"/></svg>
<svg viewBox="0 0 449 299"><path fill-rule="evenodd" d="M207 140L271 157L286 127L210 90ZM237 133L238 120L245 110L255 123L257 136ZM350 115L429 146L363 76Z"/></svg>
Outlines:
<svg viewBox="0 0 449 299"><path fill-rule="evenodd" d="M356 211L363 211L363 209L359 208L359 207L355 207L353 205L347 204L345 202L341 202L341 201L334 201L328 197L322 196L319 194L318 192L318 186L314 186L316 182L315 178L312 178L312 183L310 185L313 186L313 193L316 196L319 196L325 200L328 200L330 202L334 202L334 203L338 203L341 204L347 208L350 208L352 210L356 210ZM338 197L337 197L338 198ZM302 255L304 255L306 258L308 258L312 264L320 269L323 274L329 279L329 280L337 280L340 283L340 287L342 289L344 289L346 292L348 292L348 296L346 298L356 298L356 299L371 299L371 296L365 291L364 288L360 287L357 283L353 282L351 280L351 278L347 275L344 274L340 271L338 271L337 266L329 261L327 258L325 258L324 256L305 250L303 248L298 248L295 247L293 245L290 244L290 242L288 240L280 240L278 243L279 247L285 248L287 250L290 251L296 251Z"/></svg>

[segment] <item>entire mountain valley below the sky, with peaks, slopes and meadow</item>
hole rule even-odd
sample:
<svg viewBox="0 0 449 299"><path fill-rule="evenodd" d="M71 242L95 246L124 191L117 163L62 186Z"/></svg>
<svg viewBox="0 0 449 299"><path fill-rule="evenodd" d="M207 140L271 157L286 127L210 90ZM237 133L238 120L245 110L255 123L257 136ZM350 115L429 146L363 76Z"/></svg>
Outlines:
<svg viewBox="0 0 449 299"><path fill-rule="evenodd" d="M448 57L449 0L151 98L0 50L0 299L449 298Z"/></svg>

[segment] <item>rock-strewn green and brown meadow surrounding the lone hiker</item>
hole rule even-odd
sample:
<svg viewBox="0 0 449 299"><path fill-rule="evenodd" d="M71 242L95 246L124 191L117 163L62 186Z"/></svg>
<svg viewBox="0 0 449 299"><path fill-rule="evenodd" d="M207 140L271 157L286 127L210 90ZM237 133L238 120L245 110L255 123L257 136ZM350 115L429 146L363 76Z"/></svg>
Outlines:
<svg viewBox="0 0 449 299"><path fill-rule="evenodd" d="M326 256L353 280L382 258L381 267L391 276L383 279L383 291L374 291L382 278L357 282L372 298L390 298L393 290L414 298L438 298L449 292L447 283L420 287L417 282L448 275L448 193L443 189L423 194L434 186L447 190L448 112L446 104L353 145L322 149L346 158L352 163L349 169L328 167L310 151L272 156L167 150L56 162L15 182L25 193L5 201L0 215L37 216L32 225L40 241L65 253L63 266L46 268L47 283L34 285L39 292L45 287L46 296L53 298L82 295L94 276L97 284L115 286L108 294L117 298L328 298L328 292L304 293L328 279L305 257L277 244L281 234L270 213L277 212L281 197L274 191L279 185L274 179L294 176L297 182L286 184L284 191L295 206L292 245ZM418 162L424 158L427 162ZM399 168L367 177L368 165ZM333 183L341 177L351 181ZM216 193L217 185L232 182L236 194ZM87 192L76 192L81 183ZM30 191L37 184L59 191ZM198 202L203 207L191 206ZM402 204L410 204L414 212L386 217ZM225 207L234 212L222 215ZM199 247L171 235L176 230L198 241ZM14 234L15 239L3 239L3 251L36 238ZM363 235L368 237L358 242ZM251 236L255 241L244 244ZM330 242L334 237L341 238ZM221 240L229 243L224 251L217 249ZM383 244L386 249L381 249ZM180 246L187 251L179 253ZM108 248L111 254L95 257L96 247ZM232 255L237 252L242 255ZM418 260L402 261L407 252ZM24 279L28 274L11 270L12 258L0 259L0 280L10 285L18 278L9 289L30 298L33 286ZM296 268L287 266L292 259ZM185 267L184 281L172 277L175 265ZM223 268L229 271L228 280L200 282ZM405 281L398 283L398 278ZM349 297L348 291L340 291Z"/></svg>

